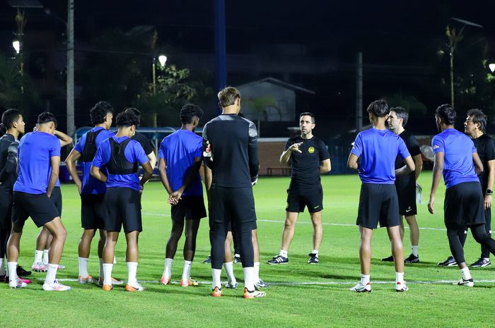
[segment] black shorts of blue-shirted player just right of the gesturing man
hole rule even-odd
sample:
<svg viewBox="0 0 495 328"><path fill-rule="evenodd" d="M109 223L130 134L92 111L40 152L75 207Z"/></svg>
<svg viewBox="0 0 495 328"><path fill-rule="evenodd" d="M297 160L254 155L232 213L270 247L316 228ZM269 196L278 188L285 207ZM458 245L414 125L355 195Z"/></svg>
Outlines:
<svg viewBox="0 0 495 328"><path fill-rule="evenodd" d="M398 226L400 224L399 202L395 185L378 183L361 184L358 219L356 224L368 229Z"/></svg>

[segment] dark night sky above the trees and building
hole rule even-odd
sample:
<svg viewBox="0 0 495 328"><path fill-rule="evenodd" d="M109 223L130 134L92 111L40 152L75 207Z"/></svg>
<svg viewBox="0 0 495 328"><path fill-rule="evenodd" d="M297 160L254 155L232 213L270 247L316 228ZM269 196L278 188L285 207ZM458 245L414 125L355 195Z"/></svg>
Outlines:
<svg viewBox="0 0 495 328"><path fill-rule="evenodd" d="M40 2L66 19L66 1ZM127 31L136 25L153 25L158 30L158 44L170 44L180 53L212 54L213 3L213 0L76 0L76 41L86 43L108 28ZM401 80L406 89L414 83L421 84L424 74L431 71L436 51L446 42L445 26L453 23L450 17L484 25L482 29L466 28L466 38L459 47L471 47L472 40L486 37L489 58L495 60L494 12L495 2L491 0L226 0L227 52L250 54L253 49L260 51L273 44L303 46L305 50L301 60L315 63L332 61L337 69L322 72L327 74L325 78L333 78L330 82L321 76L300 78L298 75L291 76L291 82L315 90L318 102L330 100L337 107L352 108L356 51L363 51L364 63L368 65L368 71L365 71L366 103L381 96L380 83L388 82L390 85ZM16 30L14 16L15 9L6 0L0 0L0 52L4 54L12 54L12 32ZM55 30L59 41L64 40L64 24L53 15L48 16L42 9L29 9L26 17L26 34L35 30ZM453 25L460 26L458 23ZM169 58L173 61L173 56ZM244 83L250 79L252 77L229 75L228 82ZM340 80L347 84L339 83ZM335 97L341 92L347 92L347 98L339 103ZM436 90L421 92L431 92L422 95L427 99L428 107L443 101L433 97Z"/></svg>

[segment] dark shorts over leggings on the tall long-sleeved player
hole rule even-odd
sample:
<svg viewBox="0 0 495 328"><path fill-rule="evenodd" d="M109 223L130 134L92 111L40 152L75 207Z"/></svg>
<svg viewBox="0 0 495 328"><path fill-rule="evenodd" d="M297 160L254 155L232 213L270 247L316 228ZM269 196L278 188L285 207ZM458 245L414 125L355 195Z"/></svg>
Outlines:
<svg viewBox="0 0 495 328"><path fill-rule="evenodd" d="M252 188L225 188L212 186L210 198L211 224L235 221L252 224L256 221L255 198ZM227 226L228 227L228 226Z"/></svg>

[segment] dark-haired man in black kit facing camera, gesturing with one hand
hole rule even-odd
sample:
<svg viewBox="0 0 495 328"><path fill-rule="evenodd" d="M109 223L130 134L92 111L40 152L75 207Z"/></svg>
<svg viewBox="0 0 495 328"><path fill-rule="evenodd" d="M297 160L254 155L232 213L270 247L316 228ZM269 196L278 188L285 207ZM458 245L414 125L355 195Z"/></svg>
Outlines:
<svg viewBox="0 0 495 328"><path fill-rule="evenodd" d="M313 135L315 116L303 113L299 116L301 135L291 138L280 156L281 164L291 165L291 184L287 189L287 207L282 245L279 255L269 260L269 265L289 263L289 245L294 236L294 227L300 212L308 207L313 222L313 250L309 254L308 263L318 264L318 252L323 238L321 211L323 209L323 189L320 174L330 171L330 154L322 140Z"/></svg>

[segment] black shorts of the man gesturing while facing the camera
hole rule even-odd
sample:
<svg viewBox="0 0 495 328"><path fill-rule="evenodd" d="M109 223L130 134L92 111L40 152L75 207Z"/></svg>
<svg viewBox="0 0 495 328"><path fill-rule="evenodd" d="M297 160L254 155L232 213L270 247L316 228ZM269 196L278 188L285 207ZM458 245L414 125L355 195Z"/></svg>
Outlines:
<svg viewBox="0 0 495 328"><path fill-rule="evenodd" d="M323 209L323 188L320 185L315 188L298 188L291 186L287 189L287 212L304 212L308 207L310 213L320 212Z"/></svg>

